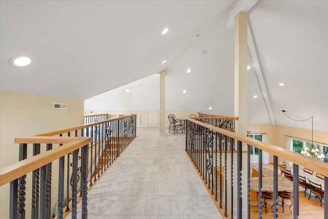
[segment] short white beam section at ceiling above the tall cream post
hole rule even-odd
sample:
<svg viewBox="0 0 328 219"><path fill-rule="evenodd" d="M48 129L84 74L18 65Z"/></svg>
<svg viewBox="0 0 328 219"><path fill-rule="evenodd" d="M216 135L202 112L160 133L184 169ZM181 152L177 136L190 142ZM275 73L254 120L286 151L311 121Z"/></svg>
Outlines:
<svg viewBox="0 0 328 219"><path fill-rule="evenodd" d="M239 12L248 12L257 3L258 0L238 1L231 10L226 24L226 29L232 30L235 27L235 16Z"/></svg>

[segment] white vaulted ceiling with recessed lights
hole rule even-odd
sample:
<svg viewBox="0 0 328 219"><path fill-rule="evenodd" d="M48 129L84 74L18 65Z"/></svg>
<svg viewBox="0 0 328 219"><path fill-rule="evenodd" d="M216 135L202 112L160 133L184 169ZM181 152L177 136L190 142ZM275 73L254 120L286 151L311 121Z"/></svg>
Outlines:
<svg viewBox="0 0 328 219"><path fill-rule="evenodd" d="M225 27L235 4L1 1L1 90L88 99L167 69L167 109L212 106L213 113L232 115L234 30ZM313 115L314 129L328 131L327 14L327 1L258 1L249 11L259 59L254 66L249 55L250 124L270 123L259 67L276 125L311 129L283 109L299 120ZM32 64L10 66L19 54Z"/></svg>

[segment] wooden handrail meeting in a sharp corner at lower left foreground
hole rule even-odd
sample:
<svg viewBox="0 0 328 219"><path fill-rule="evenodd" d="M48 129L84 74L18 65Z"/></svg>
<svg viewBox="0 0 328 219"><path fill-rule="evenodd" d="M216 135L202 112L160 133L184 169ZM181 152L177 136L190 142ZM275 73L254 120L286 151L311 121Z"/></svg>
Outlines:
<svg viewBox="0 0 328 219"><path fill-rule="evenodd" d="M68 140L70 138L70 142ZM29 140L28 137L22 138L24 140ZM19 161L15 164L9 165L7 167L0 169L0 186L3 186L16 178L23 176L33 170L43 167L50 162L57 160L66 154L75 151L81 147L84 147L92 142L91 137L57 137L57 138L40 138L35 137L30 138L33 143L65 143L61 147L49 150L44 153L37 154L35 156L29 157L23 161ZM28 143L28 142L24 142Z"/></svg>

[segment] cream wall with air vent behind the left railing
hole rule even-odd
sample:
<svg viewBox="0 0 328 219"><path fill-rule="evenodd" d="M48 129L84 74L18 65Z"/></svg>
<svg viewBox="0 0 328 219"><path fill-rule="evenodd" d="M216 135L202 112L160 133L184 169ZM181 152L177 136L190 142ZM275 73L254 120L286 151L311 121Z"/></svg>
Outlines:
<svg viewBox="0 0 328 219"><path fill-rule="evenodd" d="M54 110L53 103L66 103L66 110ZM0 91L0 167L18 161L18 144L14 144L15 137L58 130L82 125L84 122L84 101L78 99L59 98L52 96L34 95ZM31 154L29 148L28 156ZM53 188L58 185L53 165ZM27 182L29 186L30 182ZM28 188L28 187L27 187ZM1 218L9 218L9 185L0 188ZM58 191L52 190L52 195ZM30 202L31 194L26 195L26 202ZM57 198L53 197L52 209ZM26 208L27 218L30 211Z"/></svg>

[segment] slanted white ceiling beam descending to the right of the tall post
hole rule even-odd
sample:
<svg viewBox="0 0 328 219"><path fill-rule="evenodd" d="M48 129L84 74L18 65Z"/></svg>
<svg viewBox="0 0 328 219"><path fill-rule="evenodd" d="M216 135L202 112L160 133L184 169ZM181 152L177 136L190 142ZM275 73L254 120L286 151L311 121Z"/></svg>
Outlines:
<svg viewBox="0 0 328 219"><path fill-rule="evenodd" d="M268 89L267 89L267 86L265 83L263 71L260 66L260 62L259 62L258 55L257 55L257 50L256 50L255 43L253 40L253 34L251 32L249 25L247 27L247 32L248 32L248 36L247 36L248 49L250 50L250 54L251 54L251 57L253 60L258 83L259 83L261 91L262 91L264 103L265 103L265 106L267 107L267 111L268 111L268 115L270 117L271 124L275 126L275 120L274 120L273 110L272 110L271 103L270 103L269 92L268 92Z"/></svg>

